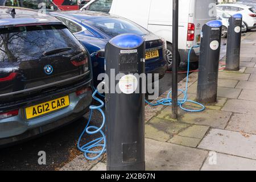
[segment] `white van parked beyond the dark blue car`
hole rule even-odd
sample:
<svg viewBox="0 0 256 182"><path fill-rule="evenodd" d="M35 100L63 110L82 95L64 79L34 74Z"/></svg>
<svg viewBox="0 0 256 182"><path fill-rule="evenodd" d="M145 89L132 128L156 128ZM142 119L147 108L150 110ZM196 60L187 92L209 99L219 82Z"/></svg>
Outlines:
<svg viewBox="0 0 256 182"><path fill-rule="evenodd" d="M171 0L92 0L81 10L104 11L123 16L167 40L167 58L172 66ZM216 19L216 0L179 0L179 61L187 61L188 51L200 43L202 26ZM199 60L199 48L191 61Z"/></svg>

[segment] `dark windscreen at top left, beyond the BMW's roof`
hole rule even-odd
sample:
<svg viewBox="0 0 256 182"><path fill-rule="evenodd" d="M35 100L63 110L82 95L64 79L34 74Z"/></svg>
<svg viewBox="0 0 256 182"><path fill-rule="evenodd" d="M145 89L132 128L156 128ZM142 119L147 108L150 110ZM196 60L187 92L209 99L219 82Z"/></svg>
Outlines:
<svg viewBox="0 0 256 182"><path fill-rule="evenodd" d="M4 6L26 7L34 10L59 10L51 0L3 0Z"/></svg>

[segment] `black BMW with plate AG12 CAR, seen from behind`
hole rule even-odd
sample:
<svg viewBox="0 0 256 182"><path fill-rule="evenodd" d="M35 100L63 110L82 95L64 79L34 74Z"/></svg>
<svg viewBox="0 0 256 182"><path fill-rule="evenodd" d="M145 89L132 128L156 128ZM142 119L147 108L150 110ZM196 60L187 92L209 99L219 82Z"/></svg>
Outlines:
<svg viewBox="0 0 256 182"><path fill-rule="evenodd" d="M63 23L0 6L0 146L82 117L91 86L89 53Z"/></svg>

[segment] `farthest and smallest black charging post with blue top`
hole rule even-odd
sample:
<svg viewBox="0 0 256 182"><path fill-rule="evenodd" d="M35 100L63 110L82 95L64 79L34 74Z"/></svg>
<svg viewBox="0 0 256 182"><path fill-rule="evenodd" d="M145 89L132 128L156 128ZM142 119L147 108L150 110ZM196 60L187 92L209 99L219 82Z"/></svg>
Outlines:
<svg viewBox="0 0 256 182"><path fill-rule="evenodd" d="M226 70L239 71L242 15L235 14L229 18L228 42L226 47Z"/></svg>

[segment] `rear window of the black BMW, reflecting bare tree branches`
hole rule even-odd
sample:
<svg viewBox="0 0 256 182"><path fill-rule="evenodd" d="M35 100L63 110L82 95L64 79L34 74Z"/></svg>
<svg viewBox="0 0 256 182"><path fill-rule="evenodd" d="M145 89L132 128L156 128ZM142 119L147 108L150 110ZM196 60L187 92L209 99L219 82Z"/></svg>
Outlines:
<svg viewBox="0 0 256 182"><path fill-rule="evenodd" d="M59 48L81 49L64 25L20 26L0 29L0 65L3 62L36 60Z"/></svg>

